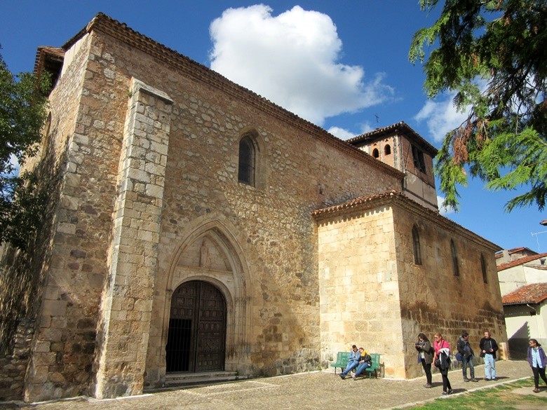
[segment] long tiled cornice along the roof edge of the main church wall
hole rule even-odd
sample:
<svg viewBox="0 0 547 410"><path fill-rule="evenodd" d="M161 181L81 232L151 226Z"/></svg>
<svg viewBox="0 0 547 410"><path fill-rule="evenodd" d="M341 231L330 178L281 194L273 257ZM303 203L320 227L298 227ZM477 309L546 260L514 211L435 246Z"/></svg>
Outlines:
<svg viewBox="0 0 547 410"><path fill-rule="evenodd" d="M216 71L212 71L212 69L205 67L203 64L199 64L198 62L191 60L189 57L177 53L175 50L163 46L161 43L135 32L135 30L130 29L127 25L110 18L104 13L98 13L84 29L76 34L76 36L72 37L72 39L67 41L62 48L67 50L67 48L72 46L72 44L81 39L83 35L94 30L108 34L119 41L123 41L123 43L128 44L128 46L151 55L163 64L168 64L171 67L174 67L190 78L194 78L196 81L207 83L208 85L221 90L223 93L230 95L234 99L241 100L245 102L245 104L249 104L252 107L265 112L266 114L274 116L275 118L290 124L292 127L313 135L317 139L320 139L326 144L335 147L339 151L342 151L353 158L365 161L367 165L377 168L382 172L386 172L399 179L403 179L405 177L403 172L400 172L395 168L372 158L364 151L361 151L344 140L331 135L326 130L323 130L323 128L300 118L296 114L292 114L290 111L287 111L283 107L274 104L274 102L266 100L266 98L253 93L247 88L238 86L233 81L230 81L228 78L218 74Z"/></svg>

